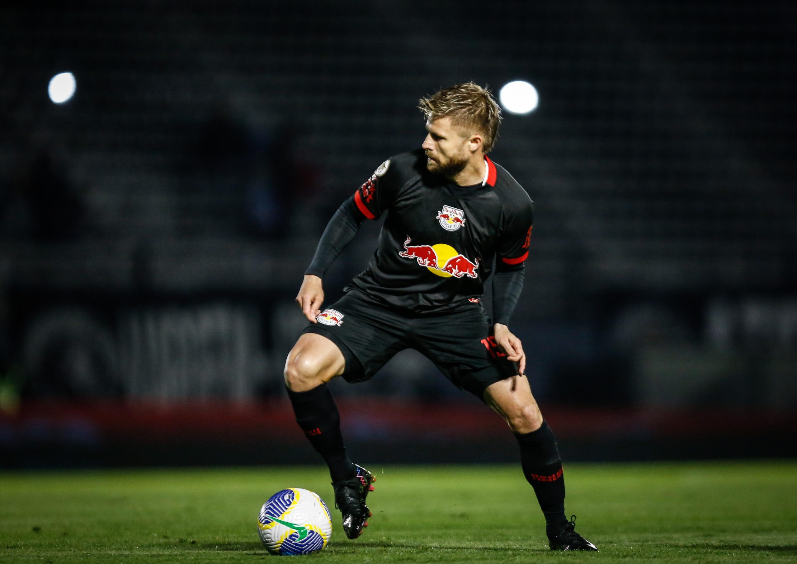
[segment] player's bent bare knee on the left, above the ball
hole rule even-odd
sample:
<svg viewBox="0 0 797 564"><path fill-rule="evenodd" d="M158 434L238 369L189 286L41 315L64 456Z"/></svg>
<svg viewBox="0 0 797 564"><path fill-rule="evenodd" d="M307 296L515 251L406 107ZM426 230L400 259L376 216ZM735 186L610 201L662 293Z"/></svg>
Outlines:
<svg viewBox="0 0 797 564"><path fill-rule="evenodd" d="M344 373L346 361L340 348L323 335L303 333L285 360L285 385L292 391L308 391Z"/></svg>

